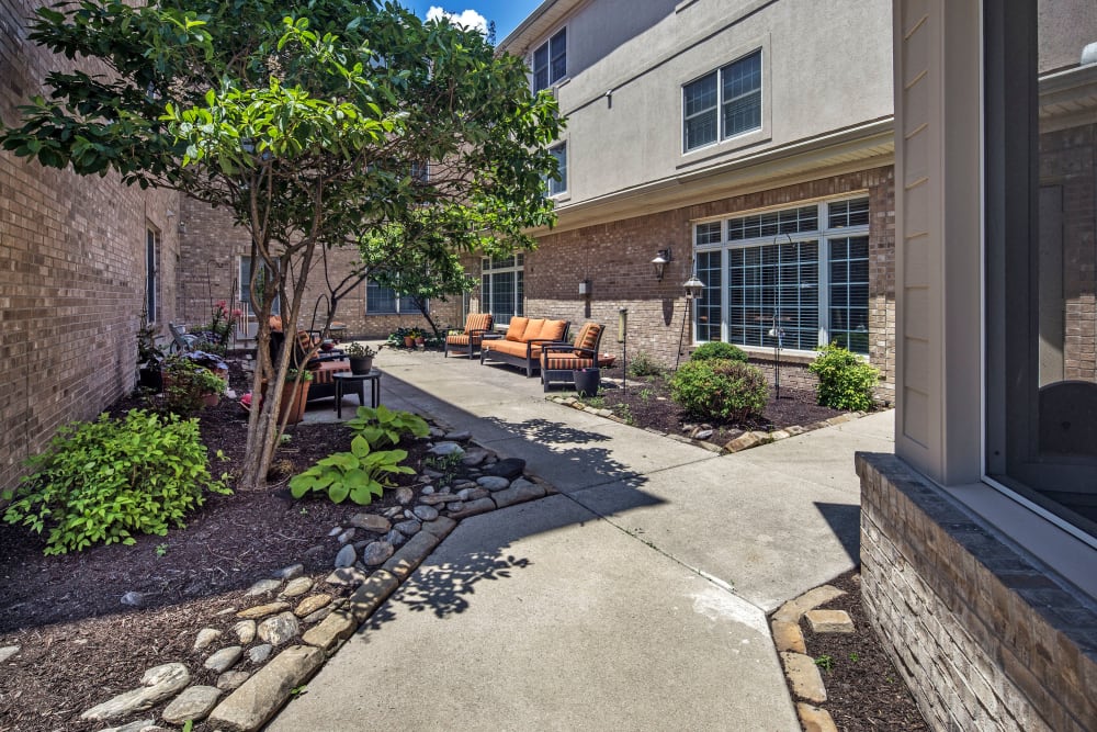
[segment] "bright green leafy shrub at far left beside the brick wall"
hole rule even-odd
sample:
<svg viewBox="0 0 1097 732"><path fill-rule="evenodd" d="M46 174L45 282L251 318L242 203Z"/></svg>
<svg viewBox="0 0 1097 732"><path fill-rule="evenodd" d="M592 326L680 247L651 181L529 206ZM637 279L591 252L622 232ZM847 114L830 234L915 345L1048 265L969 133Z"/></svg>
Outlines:
<svg viewBox="0 0 1097 732"><path fill-rule="evenodd" d="M26 464L34 473L3 494L12 500L4 520L48 528L46 554L163 536L204 503L204 491L230 493L224 475L210 475L196 420L140 409L63 427Z"/></svg>

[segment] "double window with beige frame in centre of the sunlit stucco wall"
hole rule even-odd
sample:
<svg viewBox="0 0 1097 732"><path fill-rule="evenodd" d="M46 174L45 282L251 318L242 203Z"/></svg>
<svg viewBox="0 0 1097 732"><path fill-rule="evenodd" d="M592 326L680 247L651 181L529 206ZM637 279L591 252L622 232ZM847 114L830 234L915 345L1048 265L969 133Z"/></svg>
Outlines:
<svg viewBox="0 0 1097 732"><path fill-rule="evenodd" d="M682 139L687 151L760 127L761 50L682 87Z"/></svg>

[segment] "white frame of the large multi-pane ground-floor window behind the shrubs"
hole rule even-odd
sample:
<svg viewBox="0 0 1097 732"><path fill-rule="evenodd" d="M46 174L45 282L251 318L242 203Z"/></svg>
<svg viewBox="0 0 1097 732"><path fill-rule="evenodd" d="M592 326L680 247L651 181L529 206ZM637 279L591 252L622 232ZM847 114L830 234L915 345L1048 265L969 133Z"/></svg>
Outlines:
<svg viewBox="0 0 1097 732"><path fill-rule="evenodd" d="M816 309L818 313L817 323L817 346L822 347L828 344L832 339L832 327L830 327L830 248L832 241L837 239L846 239L853 237L869 237L870 224L867 221L864 224L858 224L855 226L837 226L832 227L828 221L829 206L833 204L846 203L850 201L862 201L868 200L868 192L858 192L856 194L847 194L841 198L827 199L816 202L801 202L801 203L790 203L784 204L776 209L756 210L756 211L744 211L736 212L733 215L724 215L716 218L705 218L692 222L692 241L694 255L702 252L721 252L721 304L720 304L720 340L724 342L734 342L744 350L769 352L772 350L771 346L756 346L756 345L744 345L731 340L731 315L732 315L732 288L731 288L731 269L730 269L730 251L747 249L751 247L765 247L773 245L782 245L791 243L814 243L816 244L817 259L817 300ZM871 200L869 200L870 214L871 214ZM793 212L796 210L802 210L808 206L816 206L817 213L817 228L804 232L790 232L784 233L768 233L764 236L755 236L751 238L743 239L731 239L728 237L728 222L734 219L742 219L745 217L753 216L766 216L768 214L777 215L782 212ZM720 225L719 237L713 236L712 224ZM701 232L704 232L704 244L698 244L698 239L701 237ZM871 261L871 252L869 257ZM871 267L871 263L870 263ZM703 278L702 278L703 281ZM708 283L706 283L708 284ZM871 272L869 275L869 302L871 302ZM699 337L699 320L698 315L700 308L694 308L693 313L693 327L692 327L692 340L694 344L706 342L704 339ZM708 324L705 327L710 327ZM871 339L868 342L868 348L871 349ZM814 357L817 353L816 349L803 349L803 348L782 348L782 351L793 354L802 354L805 357ZM861 353L862 357L867 357L867 353Z"/></svg>

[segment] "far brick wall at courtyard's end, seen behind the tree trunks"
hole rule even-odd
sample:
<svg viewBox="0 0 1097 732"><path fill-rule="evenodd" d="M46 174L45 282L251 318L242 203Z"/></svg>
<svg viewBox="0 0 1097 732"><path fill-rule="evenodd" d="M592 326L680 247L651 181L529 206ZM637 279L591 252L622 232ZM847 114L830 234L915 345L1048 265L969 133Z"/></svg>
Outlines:
<svg viewBox="0 0 1097 732"><path fill-rule="evenodd" d="M179 313L180 318L191 328L208 322L217 301L229 301L237 292L240 257L249 256L251 239L247 229L233 224L231 215L224 209L185 200L182 204L181 221L186 233L182 235L183 249L180 260ZM318 327L324 322L327 294L326 277L332 285L353 269L357 251L336 249L329 251L328 275L323 261L317 257L309 273L309 285L302 301L301 324ZM477 270L478 271L478 264ZM315 319L314 319L315 311ZM462 325L461 299L431 303L431 317L439 327ZM428 328L426 319L418 313L400 315L372 315L365 312L365 285L360 284L340 299L336 308L336 320L348 326L347 337L382 338L397 327ZM238 342L247 346L247 342Z"/></svg>

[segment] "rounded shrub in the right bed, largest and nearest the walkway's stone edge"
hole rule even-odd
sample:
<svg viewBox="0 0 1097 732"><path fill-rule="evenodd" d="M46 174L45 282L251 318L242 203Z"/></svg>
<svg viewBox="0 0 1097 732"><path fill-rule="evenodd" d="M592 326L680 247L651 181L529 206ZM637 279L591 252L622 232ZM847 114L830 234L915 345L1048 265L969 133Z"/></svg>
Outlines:
<svg viewBox="0 0 1097 732"><path fill-rule="evenodd" d="M675 372L670 397L693 417L742 421L766 408L769 386L757 367L701 359L688 361Z"/></svg>

